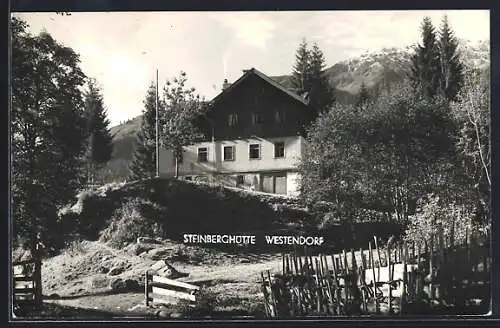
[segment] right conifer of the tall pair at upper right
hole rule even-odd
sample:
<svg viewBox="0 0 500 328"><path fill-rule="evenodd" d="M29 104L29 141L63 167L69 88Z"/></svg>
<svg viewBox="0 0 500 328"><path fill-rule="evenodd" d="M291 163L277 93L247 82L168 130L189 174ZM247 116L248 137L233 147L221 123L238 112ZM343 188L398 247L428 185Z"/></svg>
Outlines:
<svg viewBox="0 0 500 328"><path fill-rule="evenodd" d="M439 30L440 81L439 92L449 101L457 99L464 83L464 65L458 53L458 41L444 16Z"/></svg>

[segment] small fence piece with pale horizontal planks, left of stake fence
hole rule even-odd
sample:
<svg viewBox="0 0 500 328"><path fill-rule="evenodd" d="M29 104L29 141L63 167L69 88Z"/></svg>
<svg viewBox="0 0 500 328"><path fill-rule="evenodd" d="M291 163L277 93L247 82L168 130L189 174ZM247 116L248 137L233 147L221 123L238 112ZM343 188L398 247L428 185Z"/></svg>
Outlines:
<svg viewBox="0 0 500 328"><path fill-rule="evenodd" d="M145 274L146 306L150 303L170 304L172 298L196 302L199 290L198 286L154 275L149 271Z"/></svg>

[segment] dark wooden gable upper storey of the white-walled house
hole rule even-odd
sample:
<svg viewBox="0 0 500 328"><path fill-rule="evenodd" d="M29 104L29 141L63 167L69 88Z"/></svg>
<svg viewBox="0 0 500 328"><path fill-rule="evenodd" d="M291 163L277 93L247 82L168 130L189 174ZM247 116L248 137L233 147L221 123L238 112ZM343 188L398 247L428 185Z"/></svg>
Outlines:
<svg viewBox="0 0 500 328"><path fill-rule="evenodd" d="M303 98L252 69L210 103L207 137L212 131L219 140L297 135L307 110Z"/></svg>

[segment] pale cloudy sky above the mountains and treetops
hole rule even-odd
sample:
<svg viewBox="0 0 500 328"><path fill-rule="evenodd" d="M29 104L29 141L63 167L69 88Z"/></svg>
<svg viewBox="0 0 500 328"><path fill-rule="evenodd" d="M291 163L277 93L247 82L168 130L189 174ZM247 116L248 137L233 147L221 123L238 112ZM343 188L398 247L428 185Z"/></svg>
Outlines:
<svg viewBox="0 0 500 328"><path fill-rule="evenodd" d="M141 114L155 70L160 86L180 70L189 86L211 99L224 78L255 67L267 75L291 72L302 38L316 41L327 66L385 47L419 41L424 16L439 25L444 14L460 39L489 40L489 12L109 12L16 14L33 33L42 29L80 54L98 80L112 125Z"/></svg>

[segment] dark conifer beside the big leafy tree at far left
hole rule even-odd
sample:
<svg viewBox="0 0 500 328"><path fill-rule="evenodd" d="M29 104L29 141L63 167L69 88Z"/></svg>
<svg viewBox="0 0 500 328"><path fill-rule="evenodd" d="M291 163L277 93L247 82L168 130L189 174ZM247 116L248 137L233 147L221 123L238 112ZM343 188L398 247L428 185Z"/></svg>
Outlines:
<svg viewBox="0 0 500 328"><path fill-rule="evenodd" d="M97 170L111 159L113 153L113 137L109 131L110 122L106 116L101 90L95 79L88 81L84 103L88 133L87 176L88 182L94 183Z"/></svg>

